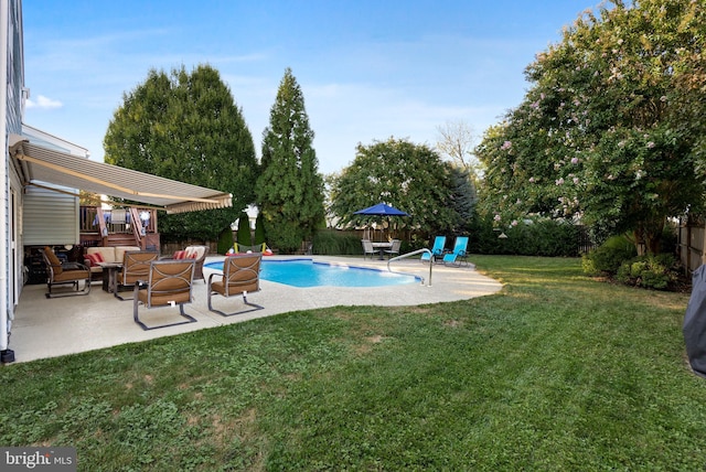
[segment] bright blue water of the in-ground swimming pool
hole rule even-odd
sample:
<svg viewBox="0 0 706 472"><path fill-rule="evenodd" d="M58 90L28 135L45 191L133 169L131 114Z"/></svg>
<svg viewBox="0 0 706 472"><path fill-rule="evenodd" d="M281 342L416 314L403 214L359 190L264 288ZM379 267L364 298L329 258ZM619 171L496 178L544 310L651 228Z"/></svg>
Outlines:
<svg viewBox="0 0 706 472"><path fill-rule="evenodd" d="M223 262L205 267L223 270ZM419 282L421 279L364 267L315 262L311 259L263 260L260 278L288 286L307 287L384 287Z"/></svg>

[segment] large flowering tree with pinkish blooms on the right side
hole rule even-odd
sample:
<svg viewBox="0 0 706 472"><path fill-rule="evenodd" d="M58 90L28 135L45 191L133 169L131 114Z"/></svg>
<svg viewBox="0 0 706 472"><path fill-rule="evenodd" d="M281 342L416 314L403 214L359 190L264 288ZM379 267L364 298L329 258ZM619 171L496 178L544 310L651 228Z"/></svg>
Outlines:
<svg viewBox="0 0 706 472"><path fill-rule="evenodd" d="M482 208L499 226L580 216L656 253L666 218L704 200L706 17L692 0L612 7L527 67L525 99L477 148Z"/></svg>

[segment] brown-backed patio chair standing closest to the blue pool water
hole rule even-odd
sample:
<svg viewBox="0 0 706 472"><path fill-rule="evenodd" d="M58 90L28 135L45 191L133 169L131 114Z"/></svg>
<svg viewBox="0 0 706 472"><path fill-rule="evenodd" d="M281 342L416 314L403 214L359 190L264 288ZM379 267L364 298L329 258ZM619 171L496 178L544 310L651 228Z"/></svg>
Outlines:
<svg viewBox="0 0 706 472"><path fill-rule="evenodd" d="M206 288L208 310L214 313L218 313L222 317L232 317L234 314L263 310L264 307L247 301L248 292L256 292L260 290L261 261L263 255L260 253L226 257L223 261L223 275L216 272L208 276ZM221 279L214 280L217 277L221 277ZM243 303L253 308L233 313L224 313L223 311L213 308L211 298L214 294L220 294L225 298L242 294Z"/></svg>

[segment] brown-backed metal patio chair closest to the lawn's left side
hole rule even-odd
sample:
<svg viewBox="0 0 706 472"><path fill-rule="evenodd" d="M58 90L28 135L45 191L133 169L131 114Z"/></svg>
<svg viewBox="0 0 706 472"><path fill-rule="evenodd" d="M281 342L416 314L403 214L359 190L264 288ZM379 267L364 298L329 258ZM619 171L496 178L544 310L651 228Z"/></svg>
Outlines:
<svg viewBox="0 0 706 472"><path fill-rule="evenodd" d="M132 318L142 330L176 326L193 323L195 318L184 312L184 304L192 302L191 287L194 279L195 262L184 260L152 260L149 264L147 278L135 282ZM147 282L143 285L142 282ZM143 287L143 288L142 288ZM179 305L179 314L185 320L148 326L139 318L140 303L147 309Z"/></svg>

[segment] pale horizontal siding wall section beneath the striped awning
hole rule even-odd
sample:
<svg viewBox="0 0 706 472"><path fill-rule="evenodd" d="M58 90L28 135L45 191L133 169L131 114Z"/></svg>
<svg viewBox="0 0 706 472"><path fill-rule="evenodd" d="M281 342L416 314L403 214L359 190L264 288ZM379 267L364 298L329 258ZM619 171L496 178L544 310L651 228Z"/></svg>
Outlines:
<svg viewBox="0 0 706 472"><path fill-rule="evenodd" d="M22 227L25 246L78 244L78 199L28 186Z"/></svg>

